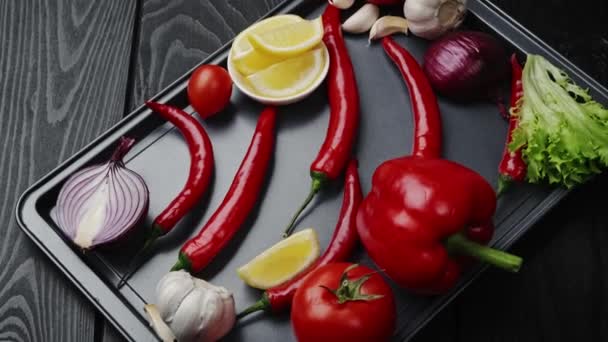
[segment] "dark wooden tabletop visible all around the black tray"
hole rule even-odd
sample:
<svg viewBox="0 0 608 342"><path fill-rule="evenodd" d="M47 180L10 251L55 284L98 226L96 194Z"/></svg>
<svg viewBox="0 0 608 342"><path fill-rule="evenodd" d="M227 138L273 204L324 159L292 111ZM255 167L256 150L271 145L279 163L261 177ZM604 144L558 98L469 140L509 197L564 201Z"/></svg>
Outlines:
<svg viewBox="0 0 608 342"><path fill-rule="evenodd" d="M281 0L0 1L0 340L120 341L25 237L18 196ZM608 2L495 0L608 84ZM576 190L417 341L608 340L608 177Z"/></svg>

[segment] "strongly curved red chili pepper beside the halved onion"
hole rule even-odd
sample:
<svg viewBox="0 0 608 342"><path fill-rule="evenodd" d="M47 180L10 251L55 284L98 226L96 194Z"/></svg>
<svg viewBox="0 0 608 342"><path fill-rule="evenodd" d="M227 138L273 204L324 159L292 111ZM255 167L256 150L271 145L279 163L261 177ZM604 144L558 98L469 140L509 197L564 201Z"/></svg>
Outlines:
<svg viewBox="0 0 608 342"><path fill-rule="evenodd" d="M145 236L142 249L133 258L133 263L119 281L118 288L122 287L138 269L139 256L148 252L159 237L170 232L200 200L209 187L213 174L213 148L203 126L192 115L179 108L151 101L146 102L146 106L179 129L190 152L190 172L179 194L154 219L152 229Z"/></svg>

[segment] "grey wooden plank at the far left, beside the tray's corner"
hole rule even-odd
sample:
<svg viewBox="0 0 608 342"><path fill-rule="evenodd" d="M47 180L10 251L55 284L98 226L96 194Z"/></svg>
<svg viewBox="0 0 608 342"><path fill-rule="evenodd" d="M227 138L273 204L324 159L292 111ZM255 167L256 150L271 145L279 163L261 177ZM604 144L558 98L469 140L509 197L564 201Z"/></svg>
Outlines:
<svg viewBox="0 0 608 342"><path fill-rule="evenodd" d="M19 230L18 196L124 112L134 4L0 1L0 340L93 341L95 311Z"/></svg>

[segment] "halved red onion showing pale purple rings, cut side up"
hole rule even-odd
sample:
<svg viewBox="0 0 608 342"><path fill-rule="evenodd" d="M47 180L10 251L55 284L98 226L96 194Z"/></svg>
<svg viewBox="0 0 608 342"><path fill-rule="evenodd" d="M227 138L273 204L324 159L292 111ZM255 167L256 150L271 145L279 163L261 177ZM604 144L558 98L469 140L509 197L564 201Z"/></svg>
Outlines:
<svg viewBox="0 0 608 342"><path fill-rule="evenodd" d="M117 240L147 215L148 187L122 160L134 143L122 137L107 163L78 171L61 188L51 218L80 248Z"/></svg>

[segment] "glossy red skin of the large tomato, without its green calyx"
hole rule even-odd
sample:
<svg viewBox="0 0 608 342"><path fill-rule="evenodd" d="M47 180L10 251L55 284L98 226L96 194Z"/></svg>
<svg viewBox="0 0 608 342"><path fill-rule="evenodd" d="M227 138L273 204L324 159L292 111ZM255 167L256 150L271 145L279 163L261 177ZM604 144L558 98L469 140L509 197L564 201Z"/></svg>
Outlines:
<svg viewBox="0 0 608 342"><path fill-rule="evenodd" d="M299 342L382 342L395 329L395 300L391 288L378 273L361 287L362 294L384 297L369 301L338 303L336 296L321 286L337 289L350 263L328 264L311 272L296 291L291 323ZM374 270L357 266L348 272L355 280Z"/></svg>

